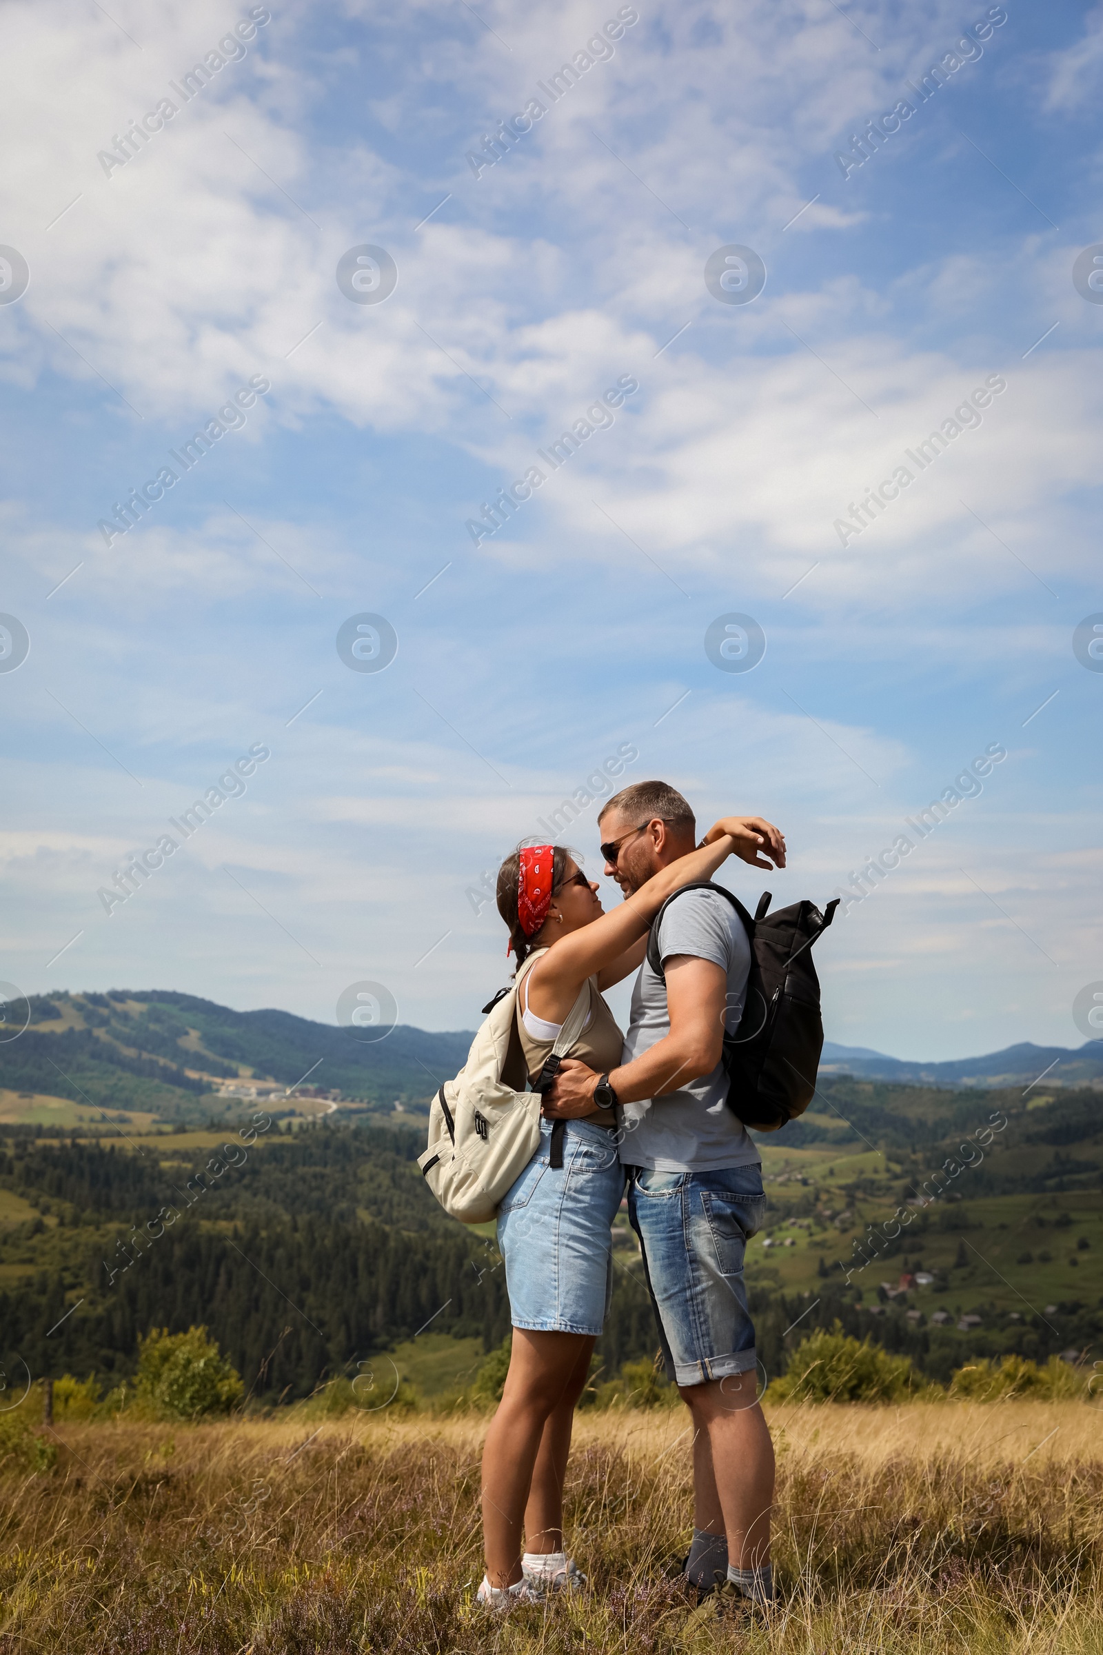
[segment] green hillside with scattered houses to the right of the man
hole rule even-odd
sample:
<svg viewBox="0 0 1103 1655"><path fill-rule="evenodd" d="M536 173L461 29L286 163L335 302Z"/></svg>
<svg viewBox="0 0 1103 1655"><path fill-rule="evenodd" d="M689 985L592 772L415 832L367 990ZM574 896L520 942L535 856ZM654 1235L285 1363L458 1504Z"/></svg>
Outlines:
<svg viewBox="0 0 1103 1655"><path fill-rule="evenodd" d="M771 1208L747 1248L752 1299L802 1314L797 1334L837 1316L941 1382L962 1354L1103 1355L1098 1092L825 1082L822 1094L822 1115L764 1140ZM824 1135L782 1147L797 1125Z"/></svg>

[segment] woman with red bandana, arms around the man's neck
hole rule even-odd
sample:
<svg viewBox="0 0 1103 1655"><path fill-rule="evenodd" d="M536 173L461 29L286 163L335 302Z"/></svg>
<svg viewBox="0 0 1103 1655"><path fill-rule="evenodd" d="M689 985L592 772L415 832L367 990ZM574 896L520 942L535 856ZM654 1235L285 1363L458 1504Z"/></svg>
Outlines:
<svg viewBox="0 0 1103 1655"><path fill-rule="evenodd" d="M602 910L597 884L561 846L506 857L498 912L518 958L518 1038L529 1082L539 1079L585 983L589 1016L571 1056L599 1074L620 1064L623 1036L600 990L642 965L650 923L666 897L709 879L733 852L766 867L764 852L784 866L777 829L759 818L728 816L696 851L661 869L612 914ZM612 1293L612 1221L623 1170L612 1109L557 1125L554 1139L552 1122L541 1122L541 1147L498 1210L514 1332L483 1450L486 1574L478 1589L478 1602L498 1609L584 1581L564 1552L562 1485L574 1407Z"/></svg>

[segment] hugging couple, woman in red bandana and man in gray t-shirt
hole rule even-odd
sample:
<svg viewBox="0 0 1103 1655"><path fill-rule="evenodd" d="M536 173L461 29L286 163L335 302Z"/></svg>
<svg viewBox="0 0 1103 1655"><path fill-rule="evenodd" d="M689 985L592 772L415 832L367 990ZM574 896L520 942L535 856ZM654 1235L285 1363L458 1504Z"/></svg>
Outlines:
<svg viewBox="0 0 1103 1655"><path fill-rule="evenodd" d="M663 781L615 794L599 816L605 874L625 902L561 846L508 857L498 912L518 970L518 1038L529 1082L589 981L582 1033L544 1094L541 1145L498 1208L513 1352L483 1453L486 1576L478 1602L508 1609L584 1576L564 1551L562 1486L574 1408L612 1293L612 1221L628 1218L660 1327L666 1375L693 1427L698 1595L769 1602L774 1451L756 1402L754 1327L742 1254L761 1228L759 1152L726 1106L721 1034L739 1024L751 945L733 905L683 885L729 856L785 866L785 841L756 816L726 816L696 842L690 804ZM602 990L638 968L627 1036Z"/></svg>

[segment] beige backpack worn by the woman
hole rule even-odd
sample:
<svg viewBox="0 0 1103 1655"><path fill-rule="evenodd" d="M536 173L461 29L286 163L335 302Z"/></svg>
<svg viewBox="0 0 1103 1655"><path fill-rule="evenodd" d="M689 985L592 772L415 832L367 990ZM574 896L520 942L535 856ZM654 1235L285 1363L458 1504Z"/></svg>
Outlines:
<svg viewBox="0 0 1103 1655"><path fill-rule="evenodd" d="M529 955L513 988L503 988L471 1041L455 1081L445 1081L428 1112L428 1149L418 1167L451 1218L481 1225L498 1216L498 1203L516 1183L541 1144L542 1092L524 1091L528 1072L518 1034L518 990L546 948ZM585 1024L590 985L559 1031L541 1081L559 1067ZM539 1082L537 1082L539 1084Z"/></svg>

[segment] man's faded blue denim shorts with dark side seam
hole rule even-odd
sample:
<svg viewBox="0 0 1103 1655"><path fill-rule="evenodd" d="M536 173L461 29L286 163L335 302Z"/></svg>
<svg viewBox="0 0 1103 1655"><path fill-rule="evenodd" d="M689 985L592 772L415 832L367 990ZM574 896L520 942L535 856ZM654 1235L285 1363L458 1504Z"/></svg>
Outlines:
<svg viewBox="0 0 1103 1655"><path fill-rule="evenodd" d="M666 1377L703 1385L757 1364L742 1254L762 1228L762 1168L628 1168L628 1218L658 1319Z"/></svg>

